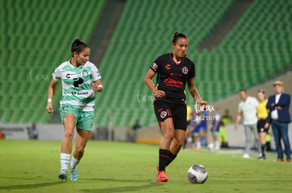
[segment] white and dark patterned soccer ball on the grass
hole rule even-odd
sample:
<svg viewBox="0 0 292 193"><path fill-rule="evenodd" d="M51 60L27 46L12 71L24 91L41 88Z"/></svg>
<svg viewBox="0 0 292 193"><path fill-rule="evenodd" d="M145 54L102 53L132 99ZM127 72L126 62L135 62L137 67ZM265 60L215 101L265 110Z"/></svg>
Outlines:
<svg viewBox="0 0 292 193"><path fill-rule="evenodd" d="M202 165L193 165L188 169L188 180L192 184L202 184L208 178L208 172Z"/></svg>

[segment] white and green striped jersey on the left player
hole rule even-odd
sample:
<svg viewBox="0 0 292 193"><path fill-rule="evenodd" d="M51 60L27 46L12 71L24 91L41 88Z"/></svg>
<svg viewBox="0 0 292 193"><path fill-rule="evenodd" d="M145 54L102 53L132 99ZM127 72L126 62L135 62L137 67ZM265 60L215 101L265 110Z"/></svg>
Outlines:
<svg viewBox="0 0 292 193"><path fill-rule="evenodd" d="M87 61L80 67L74 67L70 60L63 62L52 76L55 81L62 80L60 105L73 105L84 112L94 111L95 91L92 90L92 82L102 79L102 76L92 62Z"/></svg>

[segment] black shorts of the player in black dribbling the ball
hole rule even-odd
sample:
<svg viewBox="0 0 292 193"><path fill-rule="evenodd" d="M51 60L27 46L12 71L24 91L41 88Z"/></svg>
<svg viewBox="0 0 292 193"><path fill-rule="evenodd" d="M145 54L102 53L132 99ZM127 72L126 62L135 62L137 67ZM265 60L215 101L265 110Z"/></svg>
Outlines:
<svg viewBox="0 0 292 193"><path fill-rule="evenodd" d="M173 103L164 100L154 100L154 112L157 117L159 126L167 118L172 118L174 121L174 128L186 131L187 128L187 109L184 102Z"/></svg>

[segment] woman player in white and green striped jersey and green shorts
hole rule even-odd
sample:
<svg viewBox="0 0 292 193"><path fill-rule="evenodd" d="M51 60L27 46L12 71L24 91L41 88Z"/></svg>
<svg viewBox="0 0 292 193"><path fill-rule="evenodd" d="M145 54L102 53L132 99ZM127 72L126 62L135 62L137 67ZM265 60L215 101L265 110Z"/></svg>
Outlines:
<svg viewBox="0 0 292 193"><path fill-rule="evenodd" d="M95 108L95 91L102 92L102 76L97 67L89 62L90 47L80 39L75 39L71 46L72 58L63 62L54 70L49 84L46 110L53 112L51 101L56 84L61 80L63 94L59 111L65 134L61 144L61 171L58 177L67 180L68 165L70 164L71 180L78 180L77 164L83 157L87 140L90 136ZM76 142L73 157L72 140L76 127Z"/></svg>

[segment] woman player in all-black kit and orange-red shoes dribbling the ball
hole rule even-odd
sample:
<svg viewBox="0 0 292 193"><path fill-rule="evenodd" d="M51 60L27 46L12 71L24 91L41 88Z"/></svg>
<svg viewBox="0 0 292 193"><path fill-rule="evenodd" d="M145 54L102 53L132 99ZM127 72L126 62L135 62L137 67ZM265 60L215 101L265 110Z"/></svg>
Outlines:
<svg viewBox="0 0 292 193"><path fill-rule="evenodd" d="M157 182L168 182L165 168L176 159L185 141L185 86L188 84L188 91L197 101L197 105L203 108L208 105L195 88L195 65L186 57L188 37L176 32L172 39L172 48L172 53L161 55L152 63L145 76L145 84L154 93L154 112L164 133L159 146ZM154 86L152 79L155 74L157 84Z"/></svg>

